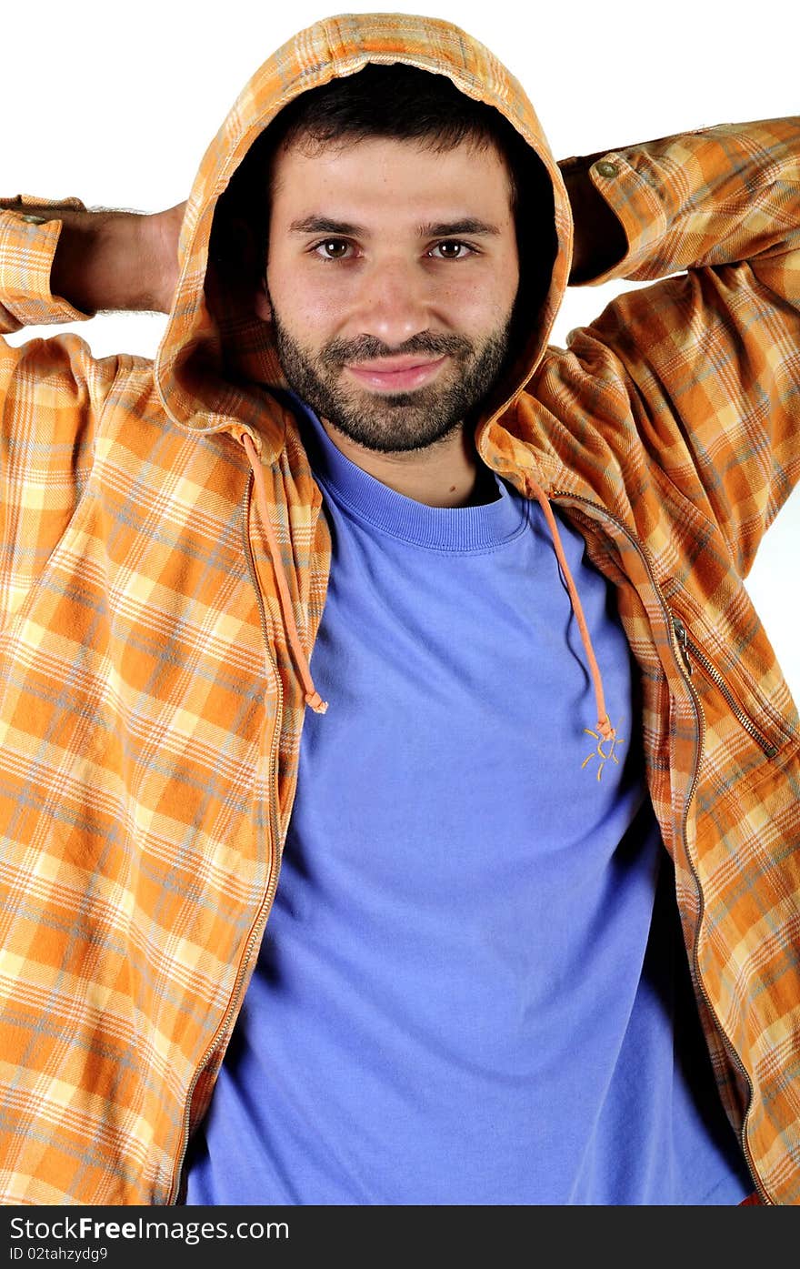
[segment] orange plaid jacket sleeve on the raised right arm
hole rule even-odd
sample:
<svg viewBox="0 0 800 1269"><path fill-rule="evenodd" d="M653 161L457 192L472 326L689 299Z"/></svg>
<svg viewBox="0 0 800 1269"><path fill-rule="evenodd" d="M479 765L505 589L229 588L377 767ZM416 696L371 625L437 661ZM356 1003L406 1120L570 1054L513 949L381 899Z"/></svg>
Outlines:
<svg viewBox="0 0 800 1269"><path fill-rule="evenodd" d="M800 477L800 117L723 123L582 164L625 255L568 346L611 350L645 445L726 537L740 576Z"/></svg>

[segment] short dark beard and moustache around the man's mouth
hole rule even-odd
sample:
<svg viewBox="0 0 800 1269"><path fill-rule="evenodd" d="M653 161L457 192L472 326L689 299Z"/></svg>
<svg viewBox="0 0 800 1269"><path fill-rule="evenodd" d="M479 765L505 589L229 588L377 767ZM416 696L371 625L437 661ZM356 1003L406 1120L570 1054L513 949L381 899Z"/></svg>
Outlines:
<svg viewBox="0 0 800 1269"><path fill-rule="evenodd" d="M332 339L318 353L307 352L280 321L275 306L273 329L278 357L289 387L350 440L378 453L427 449L456 433L497 383L512 338L511 315L475 345L461 335L421 331L402 348L387 348L370 335ZM378 393L345 385L342 371L350 362L422 353L448 355L434 383L411 392ZM444 383L439 383L444 379Z"/></svg>

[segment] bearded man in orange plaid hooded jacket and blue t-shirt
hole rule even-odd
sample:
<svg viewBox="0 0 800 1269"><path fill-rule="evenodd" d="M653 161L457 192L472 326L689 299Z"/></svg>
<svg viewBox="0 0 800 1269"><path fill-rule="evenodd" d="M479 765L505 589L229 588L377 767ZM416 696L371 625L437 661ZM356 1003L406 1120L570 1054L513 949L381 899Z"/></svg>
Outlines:
<svg viewBox="0 0 800 1269"><path fill-rule="evenodd" d="M5 1202L800 1202L799 146L346 15L185 209L0 213L6 329L170 312L4 353Z"/></svg>

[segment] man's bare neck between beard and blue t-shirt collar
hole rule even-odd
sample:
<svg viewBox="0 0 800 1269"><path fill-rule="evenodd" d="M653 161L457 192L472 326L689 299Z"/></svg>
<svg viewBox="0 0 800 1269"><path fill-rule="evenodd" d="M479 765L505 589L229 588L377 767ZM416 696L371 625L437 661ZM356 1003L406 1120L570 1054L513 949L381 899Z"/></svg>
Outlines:
<svg viewBox="0 0 800 1269"><path fill-rule="evenodd" d="M426 506L477 506L497 497L494 477L464 426L426 449L385 454L359 445L327 419L321 423L336 448L356 467Z"/></svg>

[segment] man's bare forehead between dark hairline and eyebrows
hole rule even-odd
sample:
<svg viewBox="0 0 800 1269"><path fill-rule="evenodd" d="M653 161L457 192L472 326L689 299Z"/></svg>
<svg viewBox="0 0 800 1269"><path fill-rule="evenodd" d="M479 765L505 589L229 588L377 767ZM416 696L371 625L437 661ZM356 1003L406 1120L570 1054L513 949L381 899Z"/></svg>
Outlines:
<svg viewBox="0 0 800 1269"><path fill-rule="evenodd" d="M493 143L461 141L432 150L420 141L368 137L325 145L299 140L275 155L271 170L273 213L295 217L325 209L328 214L417 212L434 206L461 214L511 217L511 179ZM311 206L313 203L313 206ZM306 206L308 204L308 206Z"/></svg>

